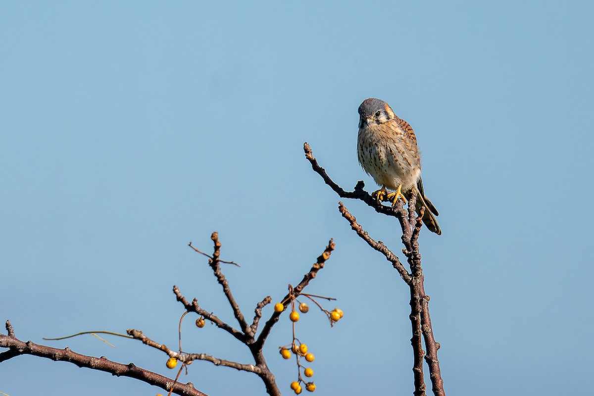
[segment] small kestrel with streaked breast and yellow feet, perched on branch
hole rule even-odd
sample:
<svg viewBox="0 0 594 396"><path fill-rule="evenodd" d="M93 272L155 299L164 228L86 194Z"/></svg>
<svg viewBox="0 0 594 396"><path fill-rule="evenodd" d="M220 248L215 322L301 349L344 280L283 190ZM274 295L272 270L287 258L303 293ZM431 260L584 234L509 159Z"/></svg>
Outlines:
<svg viewBox="0 0 594 396"><path fill-rule="evenodd" d="M439 213L423 191L415 132L383 100L369 98L359 106L357 154L363 170L381 186L373 193L378 203L389 201L395 205L401 197L406 204L412 189L416 188L416 213L420 214L425 207L423 223L429 231L441 235L435 220ZM388 193L386 188L396 192Z"/></svg>

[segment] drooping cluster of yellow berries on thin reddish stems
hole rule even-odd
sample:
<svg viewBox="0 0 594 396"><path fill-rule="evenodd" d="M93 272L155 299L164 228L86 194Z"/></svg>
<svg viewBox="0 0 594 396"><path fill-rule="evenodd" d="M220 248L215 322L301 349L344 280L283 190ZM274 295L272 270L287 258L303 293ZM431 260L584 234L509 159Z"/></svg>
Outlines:
<svg viewBox="0 0 594 396"><path fill-rule="evenodd" d="M318 307L320 307L320 309L326 313L326 315L328 315L328 319L330 319L330 324L334 325L334 322L337 322L340 320L340 318L343 317L344 313L338 309L338 308L334 308L333 311L328 312L326 311L326 309L322 308L322 306L314 300L313 297L320 297L320 298L324 298L324 299L328 299L328 300L333 300L330 299L329 297L321 297L321 296L313 296L311 294L302 294L304 296L307 296L309 299L311 299ZM299 363L299 357L304 357L305 360L307 360L307 362L313 362L315 359L315 356L313 353L308 351L308 347L305 344L302 344L301 341L299 341L296 337L295 337L295 322L299 321L299 312L295 311L295 297L290 296L289 297L291 299L291 313L289 314L289 319L293 322L293 342L290 344L287 344L286 346L283 347L279 347L280 349L280 356L283 357L283 359L290 359L291 357L291 352L293 352L293 354L295 354L296 360L297 360L297 369L298 369L298 381L293 381L290 385L291 389L293 389L293 392L295 392L295 394L301 394L301 392L303 391L303 387L301 386L301 384L303 383L305 385L305 389L309 392L313 392L315 391L315 384L314 382L305 382L304 379L301 376L301 369L303 370L303 374L306 377L311 377L314 375L314 370L312 370L311 368L306 368L304 366L301 365L301 363ZM286 302L286 300L285 300ZM274 311L276 312L283 312L285 310L285 302L282 303L277 303L276 305L274 305ZM307 313L309 311L309 307L307 306L306 303L300 303L299 304L299 311L301 311L302 313Z"/></svg>

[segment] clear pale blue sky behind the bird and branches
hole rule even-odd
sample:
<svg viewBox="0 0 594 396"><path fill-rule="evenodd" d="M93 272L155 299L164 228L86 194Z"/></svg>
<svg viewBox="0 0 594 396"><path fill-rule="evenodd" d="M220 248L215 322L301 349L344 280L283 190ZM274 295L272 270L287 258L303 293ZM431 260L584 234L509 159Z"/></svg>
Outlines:
<svg viewBox="0 0 594 396"><path fill-rule="evenodd" d="M319 395L412 394L408 290L350 230L312 172L365 180L357 107L386 100L415 129L443 236L421 254L448 395L583 394L592 315L591 2L2 2L0 319L21 340L127 328L174 346L173 284L232 321L203 257L219 231L246 313L297 283L337 297L307 315ZM400 252L399 227L345 201ZM401 254L402 256L402 254ZM334 308L331 304L327 308ZM271 307L265 311L269 315ZM249 362L228 334L184 347ZM268 362L291 394L283 317ZM585 336L587 340L587 335ZM46 341L156 370L137 341ZM211 396L264 394L255 375L195 362ZM11 396L155 395L127 378L34 357L0 365Z"/></svg>

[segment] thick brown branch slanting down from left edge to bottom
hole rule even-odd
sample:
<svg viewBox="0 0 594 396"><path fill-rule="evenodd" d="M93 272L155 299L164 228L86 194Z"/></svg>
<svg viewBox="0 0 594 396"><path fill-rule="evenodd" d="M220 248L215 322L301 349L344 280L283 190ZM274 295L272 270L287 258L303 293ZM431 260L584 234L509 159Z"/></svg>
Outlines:
<svg viewBox="0 0 594 396"><path fill-rule="evenodd" d="M9 325L10 322L7 321L7 328ZM116 376L135 378L142 382L146 382L146 384L165 389L166 391L170 391L173 387L173 393L178 395L207 396L203 392L200 392L194 388L194 384L191 382L188 382L187 384L181 384L176 382L175 379L137 367L134 365L134 363L122 365L122 363L116 363L106 359L105 356L86 356L75 353L69 348L56 349L35 344L31 341L27 341L25 343L14 337L14 330L8 331L8 334L9 335L0 334L0 347L10 348L10 351L7 352L11 353L8 354L7 352L4 352L0 354L0 356L4 358L0 359L0 362L6 360L5 358L10 359L10 357L30 354L33 356L46 357L47 359L52 359L55 361L74 363L78 367L86 367L93 370L105 371Z"/></svg>

